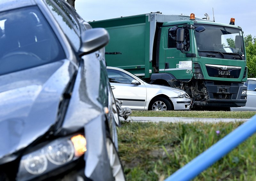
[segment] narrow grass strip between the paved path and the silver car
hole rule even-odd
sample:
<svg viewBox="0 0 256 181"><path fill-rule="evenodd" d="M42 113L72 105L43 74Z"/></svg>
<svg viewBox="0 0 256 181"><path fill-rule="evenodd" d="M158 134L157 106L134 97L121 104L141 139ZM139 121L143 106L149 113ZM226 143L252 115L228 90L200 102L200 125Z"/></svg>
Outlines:
<svg viewBox="0 0 256 181"><path fill-rule="evenodd" d="M132 111L131 116L249 119L256 111Z"/></svg>

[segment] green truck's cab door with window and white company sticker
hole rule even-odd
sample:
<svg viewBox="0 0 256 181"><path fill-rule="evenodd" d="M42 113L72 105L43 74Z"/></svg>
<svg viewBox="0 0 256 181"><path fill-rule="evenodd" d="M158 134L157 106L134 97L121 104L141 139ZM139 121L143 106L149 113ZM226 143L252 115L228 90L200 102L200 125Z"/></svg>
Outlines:
<svg viewBox="0 0 256 181"><path fill-rule="evenodd" d="M183 25L171 26L165 29L165 57L164 69L160 68L159 73L171 73L178 80L190 80L192 77L192 57L186 53L192 53L190 29L184 28L185 41L184 53L177 49L177 30Z"/></svg>

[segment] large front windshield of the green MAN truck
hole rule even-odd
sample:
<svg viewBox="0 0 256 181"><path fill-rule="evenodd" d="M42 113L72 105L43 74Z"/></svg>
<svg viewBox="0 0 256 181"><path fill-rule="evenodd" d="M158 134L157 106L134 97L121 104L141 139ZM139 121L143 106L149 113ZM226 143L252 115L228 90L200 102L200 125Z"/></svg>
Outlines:
<svg viewBox="0 0 256 181"><path fill-rule="evenodd" d="M200 33L195 31L198 52L244 56L244 39L241 29L213 25L203 26L205 31Z"/></svg>

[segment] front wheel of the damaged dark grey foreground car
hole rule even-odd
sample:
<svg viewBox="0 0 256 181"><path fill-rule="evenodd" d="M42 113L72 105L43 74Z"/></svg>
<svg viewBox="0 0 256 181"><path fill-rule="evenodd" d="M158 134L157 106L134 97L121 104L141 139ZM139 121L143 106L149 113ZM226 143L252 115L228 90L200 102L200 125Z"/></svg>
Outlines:
<svg viewBox="0 0 256 181"><path fill-rule="evenodd" d="M107 144L109 163L110 163L110 167L112 169L112 174L115 181L125 181L124 170L123 170L121 161L119 159L119 156L117 154L115 145L108 137L107 137L106 144Z"/></svg>

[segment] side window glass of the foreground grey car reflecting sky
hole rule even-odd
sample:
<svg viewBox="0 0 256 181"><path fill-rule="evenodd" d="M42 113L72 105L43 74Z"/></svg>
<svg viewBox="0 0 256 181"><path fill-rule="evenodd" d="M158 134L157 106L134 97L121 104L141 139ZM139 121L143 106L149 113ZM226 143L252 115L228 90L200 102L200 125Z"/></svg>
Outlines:
<svg viewBox="0 0 256 181"><path fill-rule="evenodd" d="M59 0L54 0L54 2L58 5L58 7L63 7L60 4ZM80 48L80 38L77 35L76 31L74 30L73 26L69 23L66 16L64 16L63 12L60 11L55 4L53 4L51 1L46 0L46 4L48 5L49 9L52 11L52 15L56 18L56 21L59 23L62 31L65 33L65 35L68 37L72 45L74 46L75 50L78 51ZM65 14L68 13L67 9Z"/></svg>

